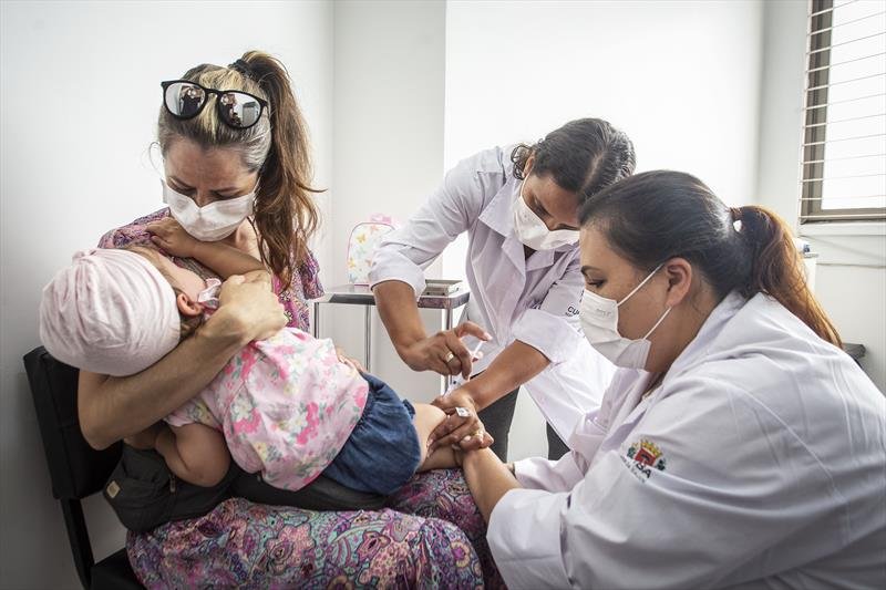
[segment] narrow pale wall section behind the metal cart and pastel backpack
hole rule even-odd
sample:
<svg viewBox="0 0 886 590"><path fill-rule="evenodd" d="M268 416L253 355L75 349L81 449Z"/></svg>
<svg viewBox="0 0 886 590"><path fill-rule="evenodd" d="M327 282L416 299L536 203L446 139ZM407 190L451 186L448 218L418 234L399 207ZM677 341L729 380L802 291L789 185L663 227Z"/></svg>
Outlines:
<svg viewBox="0 0 886 590"><path fill-rule="evenodd" d="M327 226L332 261L326 287L347 282L351 228L374 213L405 221L443 175L444 14L442 0L340 0L334 3L334 133L332 216ZM429 270L433 276L435 269ZM363 358L363 310L324 306L320 329ZM430 401L434 373L414 373L390 344L373 313L372 366L398 393ZM439 311L423 311L430 331Z"/></svg>

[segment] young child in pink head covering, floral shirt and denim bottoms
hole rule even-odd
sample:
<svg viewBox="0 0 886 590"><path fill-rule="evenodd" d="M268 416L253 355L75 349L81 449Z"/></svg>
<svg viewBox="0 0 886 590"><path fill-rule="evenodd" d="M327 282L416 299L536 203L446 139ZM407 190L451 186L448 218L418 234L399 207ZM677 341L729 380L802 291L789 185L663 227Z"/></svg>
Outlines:
<svg viewBox="0 0 886 590"><path fill-rule="evenodd" d="M166 251L193 256L223 277L262 269L235 248L194 240L172 219L152 231ZM81 252L43 290L41 340L68 364L134 374L212 313L219 286L146 247ZM426 456L430 433L445 417L434 406L401 401L339 360L330 340L286 328L244 348L148 439L176 476L196 485L219 482L230 456L282 489L297 490L322 473L388 495L416 470L455 465L447 448Z"/></svg>

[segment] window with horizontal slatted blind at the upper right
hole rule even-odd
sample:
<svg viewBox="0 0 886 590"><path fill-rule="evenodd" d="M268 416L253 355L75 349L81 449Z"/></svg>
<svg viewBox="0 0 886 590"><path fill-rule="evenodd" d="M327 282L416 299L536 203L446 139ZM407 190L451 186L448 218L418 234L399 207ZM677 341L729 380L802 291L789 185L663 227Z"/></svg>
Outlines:
<svg viewBox="0 0 886 590"><path fill-rule="evenodd" d="M800 220L886 219L886 3L811 0Z"/></svg>

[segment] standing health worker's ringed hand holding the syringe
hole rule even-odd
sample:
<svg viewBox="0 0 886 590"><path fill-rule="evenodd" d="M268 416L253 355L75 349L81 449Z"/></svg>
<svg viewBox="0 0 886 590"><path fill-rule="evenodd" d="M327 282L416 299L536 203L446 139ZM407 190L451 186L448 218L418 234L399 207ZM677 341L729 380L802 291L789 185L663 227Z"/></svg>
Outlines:
<svg viewBox="0 0 886 590"><path fill-rule="evenodd" d="M418 340L406 345L396 346L396 352L413 371L435 371L441 375L471 376L475 359L462 342L462 337L473 335L483 341L492 339L483 328L464 322L452 330L442 330L434 335Z"/></svg>

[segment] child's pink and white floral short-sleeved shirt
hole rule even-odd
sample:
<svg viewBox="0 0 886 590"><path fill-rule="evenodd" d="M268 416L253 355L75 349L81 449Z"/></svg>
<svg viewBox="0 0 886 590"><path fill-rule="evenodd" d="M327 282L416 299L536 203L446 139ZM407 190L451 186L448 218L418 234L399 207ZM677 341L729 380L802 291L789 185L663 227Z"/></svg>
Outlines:
<svg viewBox="0 0 886 590"><path fill-rule="evenodd" d="M297 490L332 463L367 403L369 384L329 339L295 328L251 342L192 401L166 416L220 429L234 460Z"/></svg>

